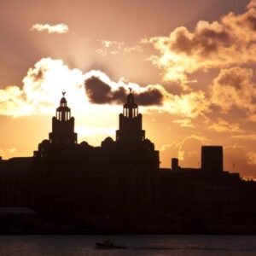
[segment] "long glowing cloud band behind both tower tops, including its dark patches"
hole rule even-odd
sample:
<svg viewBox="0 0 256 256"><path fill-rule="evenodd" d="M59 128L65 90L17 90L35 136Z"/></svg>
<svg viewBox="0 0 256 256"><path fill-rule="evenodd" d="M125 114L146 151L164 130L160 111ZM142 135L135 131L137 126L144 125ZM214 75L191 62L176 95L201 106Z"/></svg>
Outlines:
<svg viewBox="0 0 256 256"><path fill-rule="evenodd" d="M96 111L99 104L106 104L114 112L116 104L124 102L131 88L142 111L172 113L177 116L196 118L208 111L204 93L199 90L180 96L166 91L160 84L142 87L126 83L124 79L113 82L101 71L82 73L69 69L61 60L44 58L30 68L23 79L23 87L8 86L0 90L0 114L19 117L31 114L54 113L61 91L67 91L68 102L75 113ZM97 107L96 107L97 106Z"/></svg>

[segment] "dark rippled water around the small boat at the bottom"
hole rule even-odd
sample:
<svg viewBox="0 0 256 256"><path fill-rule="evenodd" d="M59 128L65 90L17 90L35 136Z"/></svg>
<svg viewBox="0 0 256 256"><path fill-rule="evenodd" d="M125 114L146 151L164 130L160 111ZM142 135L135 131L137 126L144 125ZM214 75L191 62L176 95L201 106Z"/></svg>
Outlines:
<svg viewBox="0 0 256 256"><path fill-rule="evenodd" d="M111 240L128 250L97 250ZM0 236L0 255L256 255L256 236Z"/></svg>

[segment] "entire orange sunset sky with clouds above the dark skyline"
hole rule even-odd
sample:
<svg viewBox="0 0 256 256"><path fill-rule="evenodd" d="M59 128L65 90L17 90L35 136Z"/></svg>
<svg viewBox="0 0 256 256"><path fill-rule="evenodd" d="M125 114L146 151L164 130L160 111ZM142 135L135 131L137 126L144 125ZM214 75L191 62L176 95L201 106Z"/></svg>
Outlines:
<svg viewBox="0 0 256 256"><path fill-rule="evenodd" d="M0 155L31 156L67 91L79 142L114 137L132 88L161 166L256 178L256 0L1 0Z"/></svg>

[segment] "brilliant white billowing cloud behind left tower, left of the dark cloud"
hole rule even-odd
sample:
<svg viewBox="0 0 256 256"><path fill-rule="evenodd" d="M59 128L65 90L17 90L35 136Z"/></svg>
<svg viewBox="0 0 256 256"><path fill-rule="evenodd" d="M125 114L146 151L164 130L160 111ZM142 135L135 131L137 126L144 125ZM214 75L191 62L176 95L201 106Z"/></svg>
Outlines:
<svg viewBox="0 0 256 256"><path fill-rule="evenodd" d="M85 95L83 73L78 69L70 70L60 60L44 58L38 61L22 82L22 88L7 86L0 90L1 115L19 117L53 113L61 90L69 92L71 102Z"/></svg>

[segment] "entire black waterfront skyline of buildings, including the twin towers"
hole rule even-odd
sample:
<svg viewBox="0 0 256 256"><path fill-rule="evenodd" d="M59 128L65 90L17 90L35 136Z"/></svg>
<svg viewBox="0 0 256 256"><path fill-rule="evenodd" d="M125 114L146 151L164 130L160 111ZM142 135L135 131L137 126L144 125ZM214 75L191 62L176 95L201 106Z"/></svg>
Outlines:
<svg viewBox="0 0 256 256"><path fill-rule="evenodd" d="M62 94L49 139L32 157L0 160L0 207L29 207L54 223L105 231L157 224L164 232L162 225L177 223L181 232L188 231L184 224L190 232L195 224L256 225L256 183L224 172L221 146L201 148L201 168L183 168L178 159L160 168L131 91L115 140L107 137L100 147L78 143Z"/></svg>

